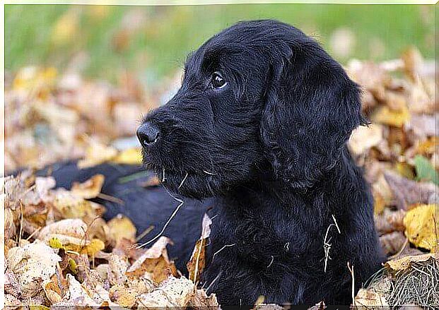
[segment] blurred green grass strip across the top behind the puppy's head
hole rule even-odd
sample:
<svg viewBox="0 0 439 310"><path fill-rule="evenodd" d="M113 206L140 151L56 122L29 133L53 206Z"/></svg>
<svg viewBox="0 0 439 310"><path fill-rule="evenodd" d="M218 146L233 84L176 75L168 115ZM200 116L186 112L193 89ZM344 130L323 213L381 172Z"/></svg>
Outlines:
<svg viewBox="0 0 439 310"><path fill-rule="evenodd" d="M339 61L392 59L411 45L434 56L434 6L247 4L211 6L7 5L5 66L75 67L115 81L150 83L181 68L188 52L238 20L276 18L313 35Z"/></svg>

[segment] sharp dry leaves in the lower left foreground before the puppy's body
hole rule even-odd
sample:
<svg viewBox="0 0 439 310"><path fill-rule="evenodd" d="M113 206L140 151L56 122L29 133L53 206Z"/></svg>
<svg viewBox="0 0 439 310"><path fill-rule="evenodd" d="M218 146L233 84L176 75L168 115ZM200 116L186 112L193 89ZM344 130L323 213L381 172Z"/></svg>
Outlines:
<svg viewBox="0 0 439 310"><path fill-rule="evenodd" d="M6 304L217 306L177 271L166 252L170 239L144 249L128 218L100 217L103 206L87 199L103 181L97 175L67 191L53 189L52 177L4 179ZM192 277L200 258L192 258Z"/></svg>

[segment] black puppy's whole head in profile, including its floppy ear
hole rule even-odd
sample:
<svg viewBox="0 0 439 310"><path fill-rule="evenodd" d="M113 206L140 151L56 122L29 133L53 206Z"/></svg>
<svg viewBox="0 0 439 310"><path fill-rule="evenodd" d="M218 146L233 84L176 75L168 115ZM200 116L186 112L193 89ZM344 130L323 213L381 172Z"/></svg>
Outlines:
<svg viewBox="0 0 439 310"><path fill-rule="evenodd" d="M189 56L180 90L144 118L144 163L168 189L194 198L263 174L312 186L361 124L359 94L300 30L238 23Z"/></svg>

